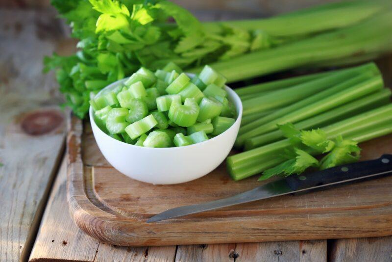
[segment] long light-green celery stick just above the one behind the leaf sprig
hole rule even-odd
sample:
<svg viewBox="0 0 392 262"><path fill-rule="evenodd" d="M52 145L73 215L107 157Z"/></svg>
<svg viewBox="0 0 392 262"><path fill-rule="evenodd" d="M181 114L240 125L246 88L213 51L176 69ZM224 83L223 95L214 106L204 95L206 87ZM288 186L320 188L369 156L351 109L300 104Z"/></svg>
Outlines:
<svg viewBox="0 0 392 262"><path fill-rule="evenodd" d="M292 123L298 122L308 117L325 112L333 107L343 105L344 103L371 94L377 90L380 90L383 86L384 83L382 77L374 76L371 79L368 79L360 84L354 85L350 88L337 92L313 104L306 105L302 108L296 109L284 116L281 116L251 131L239 135L236 140L236 146L242 146L245 142L245 139L247 138L276 130L277 124L285 124L287 122L292 122Z"/></svg>

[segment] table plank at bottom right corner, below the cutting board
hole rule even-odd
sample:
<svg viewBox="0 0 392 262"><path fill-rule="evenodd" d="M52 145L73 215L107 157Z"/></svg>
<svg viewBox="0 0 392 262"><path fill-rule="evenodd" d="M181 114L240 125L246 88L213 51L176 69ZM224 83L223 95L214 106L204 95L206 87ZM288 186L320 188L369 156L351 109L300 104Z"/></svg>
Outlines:
<svg viewBox="0 0 392 262"><path fill-rule="evenodd" d="M391 262L392 236L338 239L329 252L332 262Z"/></svg>

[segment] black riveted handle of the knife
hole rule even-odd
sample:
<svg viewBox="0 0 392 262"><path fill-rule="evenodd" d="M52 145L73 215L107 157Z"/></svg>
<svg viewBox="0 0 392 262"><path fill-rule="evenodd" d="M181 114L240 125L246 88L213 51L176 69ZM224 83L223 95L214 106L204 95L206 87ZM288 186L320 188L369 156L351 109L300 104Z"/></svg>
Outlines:
<svg viewBox="0 0 392 262"><path fill-rule="evenodd" d="M286 182L295 191L388 171L391 171L392 174L392 155L383 155L375 160L336 166L316 173L292 175L286 178Z"/></svg>

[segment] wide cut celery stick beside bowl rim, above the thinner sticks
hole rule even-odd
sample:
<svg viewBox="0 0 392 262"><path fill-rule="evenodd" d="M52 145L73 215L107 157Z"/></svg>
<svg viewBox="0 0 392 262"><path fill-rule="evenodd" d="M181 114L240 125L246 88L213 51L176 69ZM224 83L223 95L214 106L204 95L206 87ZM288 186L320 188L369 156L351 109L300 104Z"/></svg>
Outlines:
<svg viewBox="0 0 392 262"><path fill-rule="evenodd" d="M269 110L283 105L289 105L310 95L317 94L319 91L338 84L347 78L351 78L362 72L368 71L378 72L378 69L373 63L370 63L344 71L339 71L335 74L294 85L289 88L270 92L264 96L246 100L243 103L243 115L246 116L250 113Z"/></svg>

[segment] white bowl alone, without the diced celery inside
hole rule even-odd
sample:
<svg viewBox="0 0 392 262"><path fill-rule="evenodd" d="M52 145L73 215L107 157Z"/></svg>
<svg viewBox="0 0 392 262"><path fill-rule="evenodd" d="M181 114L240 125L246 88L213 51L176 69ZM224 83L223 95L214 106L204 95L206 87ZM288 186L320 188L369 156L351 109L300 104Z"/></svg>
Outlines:
<svg viewBox="0 0 392 262"><path fill-rule="evenodd" d="M116 87L114 82L101 92ZM118 171L132 179L152 184L184 183L200 178L217 168L227 157L241 124L242 103L238 95L225 86L228 100L237 111L237 119L226 131L207 141L184 147L148 148L118 141L101 131L94 121L90 106L90 122L99 150Z"/></svg>

